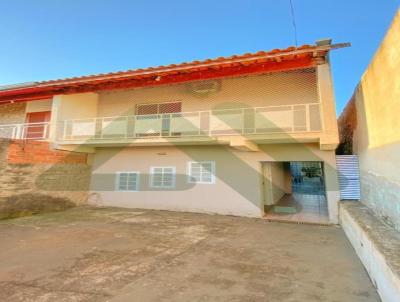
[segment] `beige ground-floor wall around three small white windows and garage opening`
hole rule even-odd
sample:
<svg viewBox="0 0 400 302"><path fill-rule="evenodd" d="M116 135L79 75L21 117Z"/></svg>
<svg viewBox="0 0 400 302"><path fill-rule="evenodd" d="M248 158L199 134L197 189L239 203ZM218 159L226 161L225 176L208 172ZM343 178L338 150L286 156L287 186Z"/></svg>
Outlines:
<svg viewBox="0 0 400 302"><path fill-rule="evenodd" d="M188 161L215 161L215 184L188 184ZM94 155L91 202L110 206L231 214L263 215L261 162L323 161L331 221L337 222L337 175L333 151L317 144L261 145L258 152L240 152L223 146L98 148ZM172 191L149 188L151 166L175 166L177 187ZM138 171L139 192L114 191L115 173Z"/></svg>

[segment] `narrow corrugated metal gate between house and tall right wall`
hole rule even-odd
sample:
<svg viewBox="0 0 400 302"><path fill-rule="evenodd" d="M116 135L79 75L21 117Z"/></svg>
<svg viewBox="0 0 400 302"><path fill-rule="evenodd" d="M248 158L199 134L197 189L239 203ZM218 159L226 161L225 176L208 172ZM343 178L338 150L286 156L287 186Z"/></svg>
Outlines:
<svg viewBox="0 0 400 302"><path fill-rule="evenodd" d="M360 200L360 170L357 155L337 155L340 199Z"/></svg>

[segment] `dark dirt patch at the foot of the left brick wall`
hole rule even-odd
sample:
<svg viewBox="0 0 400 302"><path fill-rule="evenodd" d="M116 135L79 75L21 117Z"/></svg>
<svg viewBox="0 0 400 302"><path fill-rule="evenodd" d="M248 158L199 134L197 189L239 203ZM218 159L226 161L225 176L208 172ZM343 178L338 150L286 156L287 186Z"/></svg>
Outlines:
<svg viewBox="0 0 400 302"><path fill-rule="evenodd" d="M57 212L73 207L75 204L66 198L44 194L20 194L0 199L0 219Z"/></svg>

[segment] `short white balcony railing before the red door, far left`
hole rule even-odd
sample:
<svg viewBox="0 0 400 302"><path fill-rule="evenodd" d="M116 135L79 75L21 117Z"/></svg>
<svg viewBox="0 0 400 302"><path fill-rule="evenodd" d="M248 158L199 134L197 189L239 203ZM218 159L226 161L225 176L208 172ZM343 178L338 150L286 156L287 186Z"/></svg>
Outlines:
<svg viewBox="0 0 400 302"><path fill-rule="evenodd" d="M49 133L49 122L0 125L0 138L47 140Z"/></svg>

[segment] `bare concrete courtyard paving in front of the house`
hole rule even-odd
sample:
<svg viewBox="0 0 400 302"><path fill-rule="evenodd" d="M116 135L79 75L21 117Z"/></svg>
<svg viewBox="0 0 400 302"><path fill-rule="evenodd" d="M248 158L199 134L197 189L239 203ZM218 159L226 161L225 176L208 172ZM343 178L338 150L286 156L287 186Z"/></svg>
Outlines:
<svg viewBox="0 0 400 302"><path fill-rule="evenodd" d="M0 301L379 301L334 226L77 208L0 243Z"/></svg>

